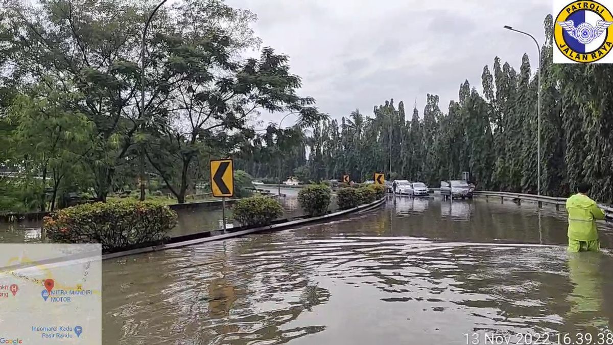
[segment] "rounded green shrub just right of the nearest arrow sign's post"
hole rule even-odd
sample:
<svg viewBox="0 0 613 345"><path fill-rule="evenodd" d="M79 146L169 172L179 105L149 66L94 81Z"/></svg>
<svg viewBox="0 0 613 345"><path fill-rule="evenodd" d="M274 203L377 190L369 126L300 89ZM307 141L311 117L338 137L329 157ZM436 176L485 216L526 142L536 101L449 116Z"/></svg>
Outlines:
<svg viewBox="0 0 613 345"><path fill-rule="evenodd" d="M253 196L234 204L234 219L242 225L264 226L283 215L283 207L274 198Z"/></svg>

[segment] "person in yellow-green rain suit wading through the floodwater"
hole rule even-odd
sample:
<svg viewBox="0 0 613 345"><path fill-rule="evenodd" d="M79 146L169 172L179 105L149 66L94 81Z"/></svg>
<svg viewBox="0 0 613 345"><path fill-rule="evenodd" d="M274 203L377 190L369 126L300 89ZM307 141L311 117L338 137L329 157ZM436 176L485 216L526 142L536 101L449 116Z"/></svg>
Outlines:
<svg viewBox="0 0 613 345"><path fill-rule="evenodd" d="M598 252L600 242L596 219L604 219L604 212L587 196L590 185L579 184L579 193L566 200L568 211L568 251Z"/></svg>

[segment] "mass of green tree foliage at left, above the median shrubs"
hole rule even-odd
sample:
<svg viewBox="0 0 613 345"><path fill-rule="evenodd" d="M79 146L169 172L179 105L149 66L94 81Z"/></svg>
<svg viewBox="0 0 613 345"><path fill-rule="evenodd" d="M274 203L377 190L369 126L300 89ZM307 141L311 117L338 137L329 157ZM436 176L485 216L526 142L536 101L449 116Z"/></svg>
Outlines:
<svg viewBox="0 0 613 345"><path fill-rule="evenodd" d="M295 143L303 142L303 129L326 118L313 98L297 94L300 77L291 73L288 56L270 47L257 58L240 55L259 47L261 40L251 29L256 15L224 1L182 0L160 7L148 26L143 58L143 21L150 4L86 0L75 6L58 0L10 5L0 8L6 24L0 25L0 115L14 102L16 116L30 125L24 122L18 129L19 142L5 140L3 134L20 124L2 118L0 144L10 141L6 151L20 171L40 174L46 167L49 176L57 177L55 189L76 181L104 201L143 172L156 172L183 203L196 180L207 176L211 158L243 148L268 150L262 155L269 158L298 155ZM142 81L140 63L145 64ZM15 97L17 90L27 92ZM261 110L292 112L297 127L273 127L275 145L261 145L262 137L249 125ZM40 141L33 145L32 140ZM31 161L12 155L17 145ZM273 161L262 160L268 166ZM44 196L40 199L44 207Z"/></svg>

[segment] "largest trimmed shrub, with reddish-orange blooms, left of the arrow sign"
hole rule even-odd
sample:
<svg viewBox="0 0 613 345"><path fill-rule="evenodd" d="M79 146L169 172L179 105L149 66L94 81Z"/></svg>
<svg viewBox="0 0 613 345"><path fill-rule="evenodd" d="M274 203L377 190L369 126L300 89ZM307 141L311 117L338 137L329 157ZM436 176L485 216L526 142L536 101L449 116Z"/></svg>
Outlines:
<svg viewBox="0 0 613 345"><path fill-rule="evenodd" d="M162 242L177 225L168 206L139 201L110 201L68 207L43 219L52 242L100 243L102 251Z"/></svg>

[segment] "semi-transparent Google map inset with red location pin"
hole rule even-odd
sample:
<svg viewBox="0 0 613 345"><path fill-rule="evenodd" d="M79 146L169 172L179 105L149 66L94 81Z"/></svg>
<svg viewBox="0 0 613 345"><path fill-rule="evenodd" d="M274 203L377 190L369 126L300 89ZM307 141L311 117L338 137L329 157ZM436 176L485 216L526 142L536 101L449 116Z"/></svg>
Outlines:
<svg viewBox="0 0 613 345"><path fill-rule="evenodd" d="M102 344L99 244L0 244L0 344Z"/></svg>

